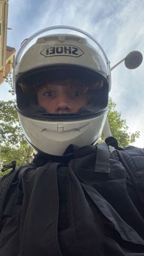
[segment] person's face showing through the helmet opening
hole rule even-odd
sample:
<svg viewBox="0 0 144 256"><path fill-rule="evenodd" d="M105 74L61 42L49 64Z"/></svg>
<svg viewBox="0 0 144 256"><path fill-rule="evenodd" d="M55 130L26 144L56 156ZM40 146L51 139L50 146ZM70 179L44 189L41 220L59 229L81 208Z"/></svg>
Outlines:
<svg viewBox="0 0 144 256"><path fill-rule="evenodd" d="M88 91L70 83L49 83L37 91L37 103L48 113L74 113L88 104Z"/></svg>

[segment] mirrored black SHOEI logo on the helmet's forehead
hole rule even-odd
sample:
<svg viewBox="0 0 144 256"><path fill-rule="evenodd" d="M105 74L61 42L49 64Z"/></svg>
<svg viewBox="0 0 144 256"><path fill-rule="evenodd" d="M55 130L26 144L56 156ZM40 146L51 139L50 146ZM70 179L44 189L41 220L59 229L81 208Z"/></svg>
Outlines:
<svg viewBox="0 0 144 256"><path fill-rule="evenodd" d="M71 56L71 57L79 57L84 52L77 46L74 45L54 45L54 46L47 46L44 48L40 54L45 57L52 57L52 56Z"/></svg>

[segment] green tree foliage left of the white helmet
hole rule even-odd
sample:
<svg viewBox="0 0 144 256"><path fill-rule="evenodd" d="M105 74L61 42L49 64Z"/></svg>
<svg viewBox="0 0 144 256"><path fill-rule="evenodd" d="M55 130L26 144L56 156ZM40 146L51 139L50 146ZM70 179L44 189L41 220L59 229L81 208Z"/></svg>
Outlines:
<svg viewBox="0 0 144 256"><path fill-rule="evenodd" d="M17 166L29 163L34 150L21 130L15 100L0 101L0 168L16 160Z"/></svg>

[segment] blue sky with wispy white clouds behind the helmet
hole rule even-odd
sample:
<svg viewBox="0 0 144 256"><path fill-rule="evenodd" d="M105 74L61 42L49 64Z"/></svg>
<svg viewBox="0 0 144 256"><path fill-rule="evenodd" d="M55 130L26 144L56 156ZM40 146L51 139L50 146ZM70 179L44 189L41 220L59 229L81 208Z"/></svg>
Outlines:
<svg viewBox="0 0 144 256"><path fill-rule="evenodd" d="M68 25L91 34L104 49L110 67L131 51L144 55L144 1L142 0L9 0L7 45L18 51L24 38L49 26ZM135 146L144 144L144 60L129 70L112 71L110 97L126 119L129 132L140 131ZM9 100L8 86L0 86L0 100Z"/></svg>

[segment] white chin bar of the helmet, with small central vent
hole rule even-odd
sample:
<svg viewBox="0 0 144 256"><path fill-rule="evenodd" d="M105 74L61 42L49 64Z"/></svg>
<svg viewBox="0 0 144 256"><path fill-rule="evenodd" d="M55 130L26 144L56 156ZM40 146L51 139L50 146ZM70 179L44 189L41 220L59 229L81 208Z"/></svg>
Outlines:
<svg viewBox="0 0 144 256"><path fill-rule="evenodd" d="M62 156L70 144L83 147L98 141L106 121L107 109L98 117L68 122L29 119L18 112L27 142L40 152Z"/></svg>

